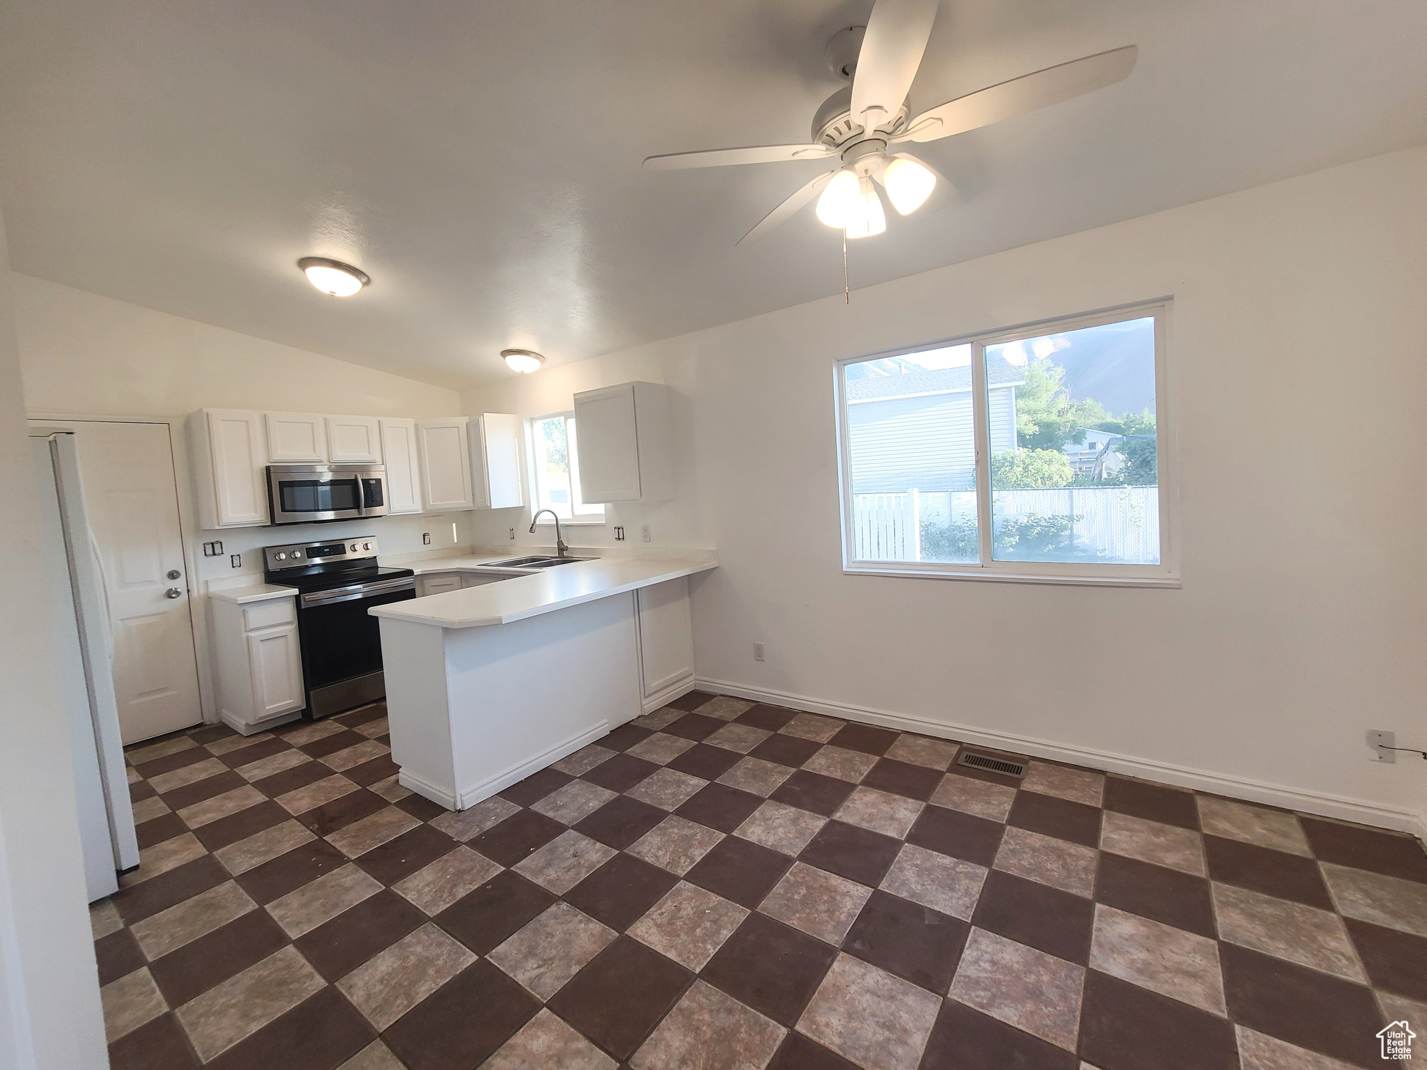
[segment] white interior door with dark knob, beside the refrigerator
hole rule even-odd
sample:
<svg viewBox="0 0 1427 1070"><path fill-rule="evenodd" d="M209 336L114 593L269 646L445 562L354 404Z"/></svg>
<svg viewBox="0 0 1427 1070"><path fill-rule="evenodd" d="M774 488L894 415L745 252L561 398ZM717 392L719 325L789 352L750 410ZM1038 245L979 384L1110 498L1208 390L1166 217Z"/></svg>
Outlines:
<svg viewBox="0 0 1427 1070"><path fill-rule="evenodd" d="M124 743L203 720L167 424L73 424L98 548Z"/></svg>

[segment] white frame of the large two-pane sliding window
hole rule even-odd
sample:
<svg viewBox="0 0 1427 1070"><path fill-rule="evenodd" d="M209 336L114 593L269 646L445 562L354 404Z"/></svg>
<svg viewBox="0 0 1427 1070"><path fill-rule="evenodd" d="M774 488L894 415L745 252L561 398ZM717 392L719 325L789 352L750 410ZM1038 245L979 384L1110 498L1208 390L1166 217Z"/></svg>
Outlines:
<svg viewBox="0 0 1427 1070"><path fill-rule="evenodd" d="M925 579L980 579L1012 584L1079 584L1087 586L1180 586L1179 574L1179 457L1174 439L1173 407L1169 389L1167 350L1172 300L1159 298L1140 304L1120 305L1082 315L1037 320L1016 327L979 331L958 338L923 345L886 350L883 352L842 357L833 362L833 397L838 434L839 512L842 516L842 571L849 575L919 576ZM1126 320L1154 318L1154 447L1159 465L1159 565L1097 565L1052 561L993 561L992 559L992 501L990 501L990 441L986 397L986 347L1037 338L1086 327L1103 327ZM976 512L977 564L942 561L858 561L852 556L852 444L848 421L846 381L843 370L849 364L883 357L906 357L928 350L953 345L972 347L972 425L976 439Z"/></svg>

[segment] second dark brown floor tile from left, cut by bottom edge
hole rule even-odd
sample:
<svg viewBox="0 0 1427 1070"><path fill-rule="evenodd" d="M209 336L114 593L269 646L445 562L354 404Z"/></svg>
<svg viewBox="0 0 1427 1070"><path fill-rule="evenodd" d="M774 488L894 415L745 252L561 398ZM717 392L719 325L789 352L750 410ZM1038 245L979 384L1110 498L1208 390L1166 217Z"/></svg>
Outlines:
<svg viewBox="0 0 1427 1070"><path fill-rule="evenodd" d="M323 989L240 1040L204 1070L331 1070L377 1037L357 1009L337 989Z"/></svg>

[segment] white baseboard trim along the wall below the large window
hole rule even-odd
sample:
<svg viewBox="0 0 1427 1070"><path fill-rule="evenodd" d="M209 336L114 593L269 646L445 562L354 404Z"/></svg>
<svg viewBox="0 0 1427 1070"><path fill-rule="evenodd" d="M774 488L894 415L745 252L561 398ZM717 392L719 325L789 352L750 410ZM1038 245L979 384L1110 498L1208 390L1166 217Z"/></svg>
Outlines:
<svg viewBox="0 0 1427 1070"><path fill-rule="evenodd" d="M769 702L789 709L802 709L809 713L825 713L843 720L859 720L882 728L895 728L900 732L918 732L923 736L939 736L955 739L960 743L976 743L996 750L1012 750L1015 753L1030 755L1032 758L1046 758L1053 762L1080 765L1089 769L1102 769L1109 773L1123 773L1137 776L1143 780L1157 780L1177 788L1189 788L1196 792L1224 795L1232 799L1246 802L1267 803L1286 810L1300 810L1320 817L1336 817L1339 820L1371 825L1394 832L1408 832L1417 839L1427 842L1427 815L1411 810L1396 810L1390 806L1380 806L1361 799L1350 799L1339 795L1316 795L1297 788L1266 783L1263 780L1247 780L1243 778L1223 776L1203 769L1152 762L1129 755L1117 755L1107 750L1092 750L1089 748L1055 743L1045 739L1016 736L1006 732L990 732L972 728L970 725L948 723L943 720L928 720L905 713L892 713L883 709L866 709L862 706L848 706L841 702L828 702L808 695L793 695L768 688L749 688L731 681L715 681L701 676L696 682L699 691L709 691L719 695L732 695L752 702Z"/></svg>

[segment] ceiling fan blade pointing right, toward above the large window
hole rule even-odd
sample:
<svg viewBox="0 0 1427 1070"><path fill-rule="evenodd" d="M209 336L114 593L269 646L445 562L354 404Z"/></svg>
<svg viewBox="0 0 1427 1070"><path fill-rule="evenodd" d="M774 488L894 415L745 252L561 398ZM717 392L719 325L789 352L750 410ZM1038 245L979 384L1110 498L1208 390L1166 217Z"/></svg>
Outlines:
<svg viewBox="0 0 1427 1070"><path fill-rule="evenodd" d="M1134 70L1139 51L1127 44L968 93L923 111L892 140L935 141L1113 86Z"/></svg>

